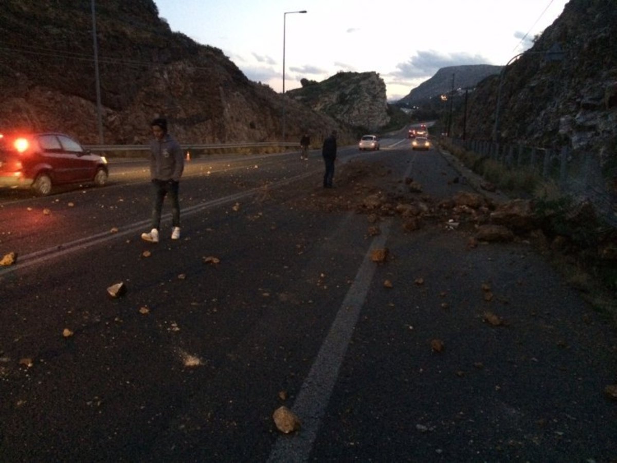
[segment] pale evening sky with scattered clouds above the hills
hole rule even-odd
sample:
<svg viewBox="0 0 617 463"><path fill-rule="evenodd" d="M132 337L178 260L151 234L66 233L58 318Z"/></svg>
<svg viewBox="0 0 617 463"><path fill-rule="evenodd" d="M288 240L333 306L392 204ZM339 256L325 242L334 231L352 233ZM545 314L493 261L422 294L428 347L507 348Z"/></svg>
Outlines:
<svg viewBox="0 0 617 463"><path fill-rule="evenodd" d="M172 31L221 49L252 81L286 91L300 79L379 73L389 101L437 70L505 65L568 0L154 0ZM306 10L306 14L294 13ZM288 14L285 14L288 12Z"/></svg>

